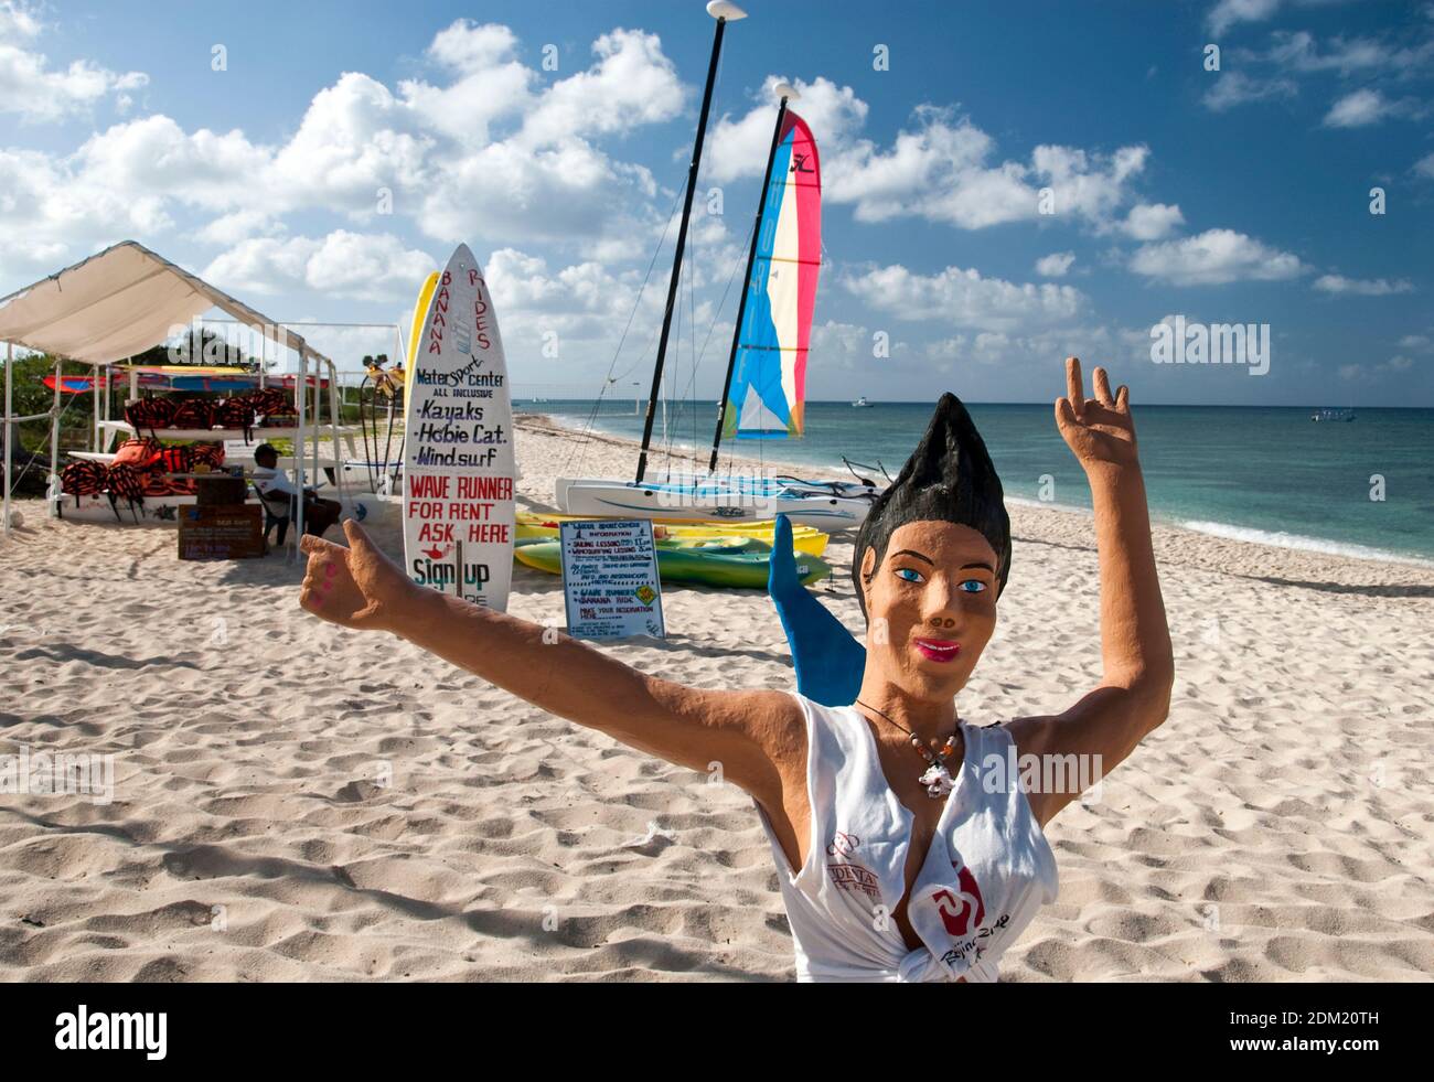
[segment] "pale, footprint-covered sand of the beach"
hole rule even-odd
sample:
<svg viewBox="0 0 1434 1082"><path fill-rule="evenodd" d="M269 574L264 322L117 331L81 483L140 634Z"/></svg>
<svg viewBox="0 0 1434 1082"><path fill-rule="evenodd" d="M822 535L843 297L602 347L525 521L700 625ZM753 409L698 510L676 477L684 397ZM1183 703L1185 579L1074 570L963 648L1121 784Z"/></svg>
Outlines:
<svg viewBox="0 0 1434 1082"><path fill-rule="evenodd" d="M543 418L518 456L533 509L559 473L634 461ZM113 755L115 791L0 795L4 979L792 979L736 787L321 623L278 553L185 563L172 527L22 510L0 755ZM999 628L958 699L977 724L1061 711L1100 674L1090 519L1011 510ZM819 592L859 631L849 542ZM1060 899L1002 979L1428 980L1434 570L1166 527L1156 552L1170 718L1050 824ZM792 686L763 593L667 586L664 608L665 642L604 649ZM509 611L562 626L559 579L518 566Z"/></svg>

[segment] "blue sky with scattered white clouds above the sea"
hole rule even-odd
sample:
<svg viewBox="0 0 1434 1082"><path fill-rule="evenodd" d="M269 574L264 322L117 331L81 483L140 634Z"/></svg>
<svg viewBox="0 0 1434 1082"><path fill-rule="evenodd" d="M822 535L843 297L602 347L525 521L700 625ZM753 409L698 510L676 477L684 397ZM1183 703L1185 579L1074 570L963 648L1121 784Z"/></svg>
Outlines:
<svg viewBox="0 0 1434 1082"><path fill-rule="evenodd" d="M823 152L810 397L1048 401L1076 353L1136 401L1434 404L1434 3L746 7L678 390L708 334L720 383L784 77ZM711 29L698 0L0 0L0 294L133 238L275 318L397 321L466 241L521 391L594 394L635 311L627 397ZM1152 363L1174 317L1268 324L1268 373Z"/></svg>

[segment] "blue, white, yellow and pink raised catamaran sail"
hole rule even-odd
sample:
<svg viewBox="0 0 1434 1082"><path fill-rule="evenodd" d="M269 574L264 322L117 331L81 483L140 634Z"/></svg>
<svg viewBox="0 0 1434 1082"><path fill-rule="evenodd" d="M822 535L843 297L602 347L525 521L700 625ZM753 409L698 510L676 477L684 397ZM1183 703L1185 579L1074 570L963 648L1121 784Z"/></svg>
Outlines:
<svg viewBox="0 0 1434 1082"><path fill-rule="evenodd" d="M790 110L777 130L763 205L721 439L802 434L822 269L822 169L812 129Z"/></svg>

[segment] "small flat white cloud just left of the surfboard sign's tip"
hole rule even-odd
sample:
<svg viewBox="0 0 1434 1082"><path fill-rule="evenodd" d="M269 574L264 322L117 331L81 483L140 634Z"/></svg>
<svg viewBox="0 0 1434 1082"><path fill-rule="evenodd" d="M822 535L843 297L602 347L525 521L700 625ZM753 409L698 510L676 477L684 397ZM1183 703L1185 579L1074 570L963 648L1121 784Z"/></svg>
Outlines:
<svg viewBox="0 0 1434 1082"><path fill-rule="evenodd" d="M406 248L393 234L241 241L217 257L201 278L231 292L284 294L295 288L363 301L409 301L437 268L426 252Z"/></svg>

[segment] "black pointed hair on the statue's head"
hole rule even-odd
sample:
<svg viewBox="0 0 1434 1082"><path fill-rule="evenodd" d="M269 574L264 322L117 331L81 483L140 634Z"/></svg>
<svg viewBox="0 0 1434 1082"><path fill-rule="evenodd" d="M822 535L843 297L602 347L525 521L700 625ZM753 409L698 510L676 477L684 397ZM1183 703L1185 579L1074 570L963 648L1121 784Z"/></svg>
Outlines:
<svg viewBox="0 0 1434 1082"><path fill-rule="evenodd" d="M875 549L876 568L886 559L892 535L912 522L954 522L969 526L988 542L997 557L997 596L1011 570L1011 519L1005 513L1001 479L991 464L985 441L961 400L946 391L926 426L916 450L896 480L872 504L856 535L852 553L852 583L866 613L862 562Z"/></svg>

